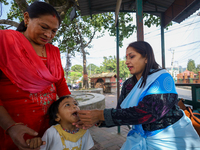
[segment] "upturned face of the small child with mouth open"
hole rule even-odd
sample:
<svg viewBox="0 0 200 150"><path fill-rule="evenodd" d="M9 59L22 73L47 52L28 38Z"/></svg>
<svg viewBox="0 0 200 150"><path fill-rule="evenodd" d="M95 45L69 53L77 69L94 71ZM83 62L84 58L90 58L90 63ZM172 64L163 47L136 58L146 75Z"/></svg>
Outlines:
<svg viewBox="0 0 200 150"><path fill-rule="evenodd" d="M79 121L77 111L80 110L78 103L72 97L63 99L58 106L56 121L60 124L72 124Z"/></svg>

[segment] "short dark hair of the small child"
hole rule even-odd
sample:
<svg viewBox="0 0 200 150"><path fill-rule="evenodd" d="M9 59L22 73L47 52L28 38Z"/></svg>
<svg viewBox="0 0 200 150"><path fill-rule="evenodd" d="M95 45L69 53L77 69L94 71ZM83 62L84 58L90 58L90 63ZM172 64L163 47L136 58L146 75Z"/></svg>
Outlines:
<svg viewBox="0 0 200 150"><path fill-rule="evenodd" d="M65 98L70 98L71 96L63 96L60 97L57 101L53 102L48 111L47 111L47 115L49 115L49 125L56 125L59 122L55 121L55 119L57 118L57 113L58 113L58 107L60 105L60 103L65 99Z"/></svg>

